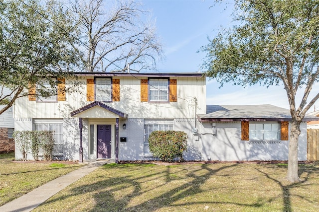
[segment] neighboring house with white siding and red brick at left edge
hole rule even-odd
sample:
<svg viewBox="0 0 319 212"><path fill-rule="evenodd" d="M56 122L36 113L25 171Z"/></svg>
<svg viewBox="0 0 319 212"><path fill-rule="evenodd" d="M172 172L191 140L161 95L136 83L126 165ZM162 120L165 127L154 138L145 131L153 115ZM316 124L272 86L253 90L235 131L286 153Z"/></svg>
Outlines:
<svg viewBox="0 0 319 212"><path fill-rule="evenodd" d="M9 89L3 88L2 95L8 95ZM0 108L4 106L0 105ZM4 111L0 115L0 152L14 151L14 121L12 115L12 107Z"/></svg>

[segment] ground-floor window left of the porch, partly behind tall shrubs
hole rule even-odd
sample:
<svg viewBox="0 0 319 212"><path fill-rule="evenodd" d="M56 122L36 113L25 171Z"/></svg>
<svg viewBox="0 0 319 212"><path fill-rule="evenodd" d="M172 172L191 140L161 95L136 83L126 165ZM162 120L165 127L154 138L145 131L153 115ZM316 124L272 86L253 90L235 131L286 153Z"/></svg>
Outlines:
<svg viewBox="0 0 319 212"><path fill-rule="evenodd" d="M63 155L63 124L62 121L45 121L45 120L35 120L33 123L33 130L35 131L53 131L54 138L54 150L53 155L62 156Z"/></svg>

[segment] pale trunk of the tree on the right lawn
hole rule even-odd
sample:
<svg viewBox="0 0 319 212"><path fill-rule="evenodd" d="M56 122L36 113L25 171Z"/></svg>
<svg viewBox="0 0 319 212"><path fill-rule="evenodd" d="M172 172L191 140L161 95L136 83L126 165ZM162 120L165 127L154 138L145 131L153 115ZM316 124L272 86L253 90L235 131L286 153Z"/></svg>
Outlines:
<svg viewBox="0 0 319 212"><path fill-rule="evenodd" d="M298 182L298 140L300 135L300 122L292 121L289 140L288 173L287 179L291 182Z"/></svg>

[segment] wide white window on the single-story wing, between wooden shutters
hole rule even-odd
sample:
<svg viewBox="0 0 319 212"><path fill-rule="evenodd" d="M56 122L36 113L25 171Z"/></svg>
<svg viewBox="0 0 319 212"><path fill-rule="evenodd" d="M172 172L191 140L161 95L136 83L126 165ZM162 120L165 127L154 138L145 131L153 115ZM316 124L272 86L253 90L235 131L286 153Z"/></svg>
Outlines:
<svg viewBox="0 0 319 212"><path fill-rule="evenodd" d="M250 140L280 140L280 123L249 123Z"/></svg>

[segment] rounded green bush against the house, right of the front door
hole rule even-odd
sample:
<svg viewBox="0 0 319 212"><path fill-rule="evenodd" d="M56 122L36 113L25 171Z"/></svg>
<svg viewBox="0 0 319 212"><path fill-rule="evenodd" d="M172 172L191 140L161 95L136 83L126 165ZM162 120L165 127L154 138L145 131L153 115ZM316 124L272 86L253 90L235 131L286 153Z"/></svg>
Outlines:
<svg viewBox="0 0 319 212"><path fill-rule="evenodd" d="M149 137L150 150L154 156L165 162L172 162L187 151L187 134L181 131L154 131Z"/></svg>

